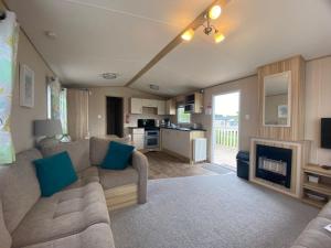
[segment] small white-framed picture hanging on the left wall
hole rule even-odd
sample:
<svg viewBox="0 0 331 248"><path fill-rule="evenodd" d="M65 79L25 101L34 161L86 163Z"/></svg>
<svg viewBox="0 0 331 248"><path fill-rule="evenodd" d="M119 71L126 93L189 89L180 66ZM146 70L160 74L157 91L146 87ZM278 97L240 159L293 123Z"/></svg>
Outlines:
<svg viewBox="0 0 331 248"><path fill-rule="evenodd" d="M20 106L34 107L34 72L28 65L20 65Z"/></svg>

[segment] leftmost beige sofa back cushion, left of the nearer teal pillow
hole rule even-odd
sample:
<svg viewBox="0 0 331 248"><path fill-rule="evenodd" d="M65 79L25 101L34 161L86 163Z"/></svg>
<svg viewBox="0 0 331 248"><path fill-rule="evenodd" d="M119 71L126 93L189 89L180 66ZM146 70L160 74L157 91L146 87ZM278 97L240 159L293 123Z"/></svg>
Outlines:
<svg viewBox="0 0 331 248"><path fill-rule="evenodd" d="M0 166L0 198L3 219L10 234L41 196L32 161L41 159L36 149L17 154L17 161Z"/></svg>

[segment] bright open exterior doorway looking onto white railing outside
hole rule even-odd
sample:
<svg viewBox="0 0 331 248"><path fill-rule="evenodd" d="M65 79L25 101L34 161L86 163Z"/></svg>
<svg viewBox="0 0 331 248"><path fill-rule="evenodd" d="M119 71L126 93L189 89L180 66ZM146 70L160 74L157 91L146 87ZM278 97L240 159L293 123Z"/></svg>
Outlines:
<svg viewBox="0 0 331 248"><path fill-rule="evenodd" d="M213 96L212 162L236 170L241 93Z"/></svg>

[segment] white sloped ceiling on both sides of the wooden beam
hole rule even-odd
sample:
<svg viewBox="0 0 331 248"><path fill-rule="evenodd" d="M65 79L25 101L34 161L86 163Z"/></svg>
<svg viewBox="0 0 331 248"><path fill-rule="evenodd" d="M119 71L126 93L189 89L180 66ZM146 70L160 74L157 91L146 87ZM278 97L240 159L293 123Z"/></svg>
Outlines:
<svg viewBox="0 0 331 248"><path fill-rule="evenodd" d="M7 0L51 67L67 84L120 86L212 0ZM178 95L254 74L256 67L302 54L331 54L330 0L231 0L215 24L214 44L196 31L139 78L134 88ZM44 35L51 30L55 40ZM104 72L120 76L107 82Z"/></svg>

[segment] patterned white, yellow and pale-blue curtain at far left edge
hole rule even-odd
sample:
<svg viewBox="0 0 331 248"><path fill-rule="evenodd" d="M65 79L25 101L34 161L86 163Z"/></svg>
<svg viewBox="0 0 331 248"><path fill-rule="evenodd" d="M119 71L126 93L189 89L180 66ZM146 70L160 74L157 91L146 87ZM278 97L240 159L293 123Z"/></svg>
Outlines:
<svg viewBox="0 0 331 248"><path fill-rule="evenodd" d="M11 132L10 112L17 67L19 25L13 12L7 11L0 21L0 164L15 160Z"/></svg>

